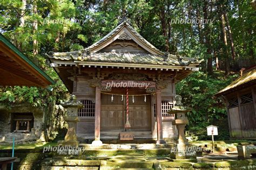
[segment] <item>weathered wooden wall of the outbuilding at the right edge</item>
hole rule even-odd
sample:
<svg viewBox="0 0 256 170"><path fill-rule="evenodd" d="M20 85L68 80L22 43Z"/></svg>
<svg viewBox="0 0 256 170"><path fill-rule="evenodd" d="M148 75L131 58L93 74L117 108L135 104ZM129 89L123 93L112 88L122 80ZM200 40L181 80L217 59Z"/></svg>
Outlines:
<svg viewBox="0 0 256 170"><path fill-rule="evenodd" d="M256 86L226 96L231 138L256 139Z"/></svg>

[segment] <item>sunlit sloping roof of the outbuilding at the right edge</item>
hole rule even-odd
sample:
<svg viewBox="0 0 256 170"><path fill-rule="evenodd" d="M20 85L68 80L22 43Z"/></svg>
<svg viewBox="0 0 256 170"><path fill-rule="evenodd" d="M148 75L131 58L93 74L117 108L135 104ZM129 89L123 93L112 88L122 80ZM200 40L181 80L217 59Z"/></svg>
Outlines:
<svg viewBox="0 0 256 170"><path fill-rule="evenodd" d="M220 90L217 95L225 95L233 90L240 89L244 86L250 86L256 84L256 65L252 66L242 72L242 75L233 81L230 85Z"/></svg>

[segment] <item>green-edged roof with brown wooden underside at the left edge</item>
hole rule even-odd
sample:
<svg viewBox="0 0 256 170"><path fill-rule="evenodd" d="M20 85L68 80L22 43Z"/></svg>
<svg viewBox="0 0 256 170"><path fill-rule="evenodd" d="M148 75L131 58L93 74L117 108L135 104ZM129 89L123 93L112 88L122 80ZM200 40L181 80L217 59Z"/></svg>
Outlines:
<svg viewBox="0 0 256 170"><path fill-rule="evenodd" d="M55 82L0 33L0 86L48 88Z"/></svg>

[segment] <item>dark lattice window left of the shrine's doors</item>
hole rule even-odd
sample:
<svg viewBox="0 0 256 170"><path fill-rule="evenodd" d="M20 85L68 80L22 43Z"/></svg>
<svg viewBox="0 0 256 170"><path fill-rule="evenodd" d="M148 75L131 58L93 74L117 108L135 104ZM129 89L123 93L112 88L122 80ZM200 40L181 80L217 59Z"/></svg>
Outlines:
<svg viewBox="0 0 256 170"><path fill-rule="evenodd" d="M84 108L78 110L78 116L95 117L95 103L90 100L83 100L81 102L84 104Z"/></svg>

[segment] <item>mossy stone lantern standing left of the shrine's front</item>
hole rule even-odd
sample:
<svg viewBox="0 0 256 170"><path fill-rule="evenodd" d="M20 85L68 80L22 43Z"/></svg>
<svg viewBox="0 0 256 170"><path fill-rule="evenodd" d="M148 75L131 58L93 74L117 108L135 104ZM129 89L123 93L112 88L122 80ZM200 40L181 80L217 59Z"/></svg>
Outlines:
<svg viewBox="0 0 256 170"><path fill-rule="evenodd" d="M70 96L70 100L60 103L64 108L67 109L67 116L64 117L64 120L68 122L69 129L66 133L65 139L58 141L59 145L62 146L75 146L78 147L79 141L77 140L76 128L77 122L80 121L78 117L78 109L84 107L83 103L77 101L75 95Z"/></svg>

